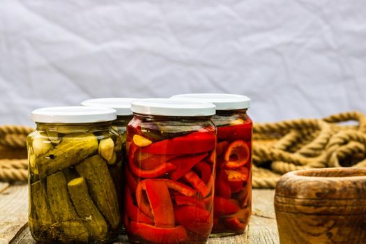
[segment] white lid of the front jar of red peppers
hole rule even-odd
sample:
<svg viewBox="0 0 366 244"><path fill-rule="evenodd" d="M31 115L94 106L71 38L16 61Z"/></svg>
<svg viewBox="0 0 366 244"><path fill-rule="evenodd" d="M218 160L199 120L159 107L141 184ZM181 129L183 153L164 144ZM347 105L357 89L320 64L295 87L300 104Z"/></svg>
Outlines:
<svg viewBox="0 0 366 244"><path fill-rule="evenodd" d="M215 105L210 102L146 98L133 101L131 110L137 114L161 116L212 116Z"/></svg>

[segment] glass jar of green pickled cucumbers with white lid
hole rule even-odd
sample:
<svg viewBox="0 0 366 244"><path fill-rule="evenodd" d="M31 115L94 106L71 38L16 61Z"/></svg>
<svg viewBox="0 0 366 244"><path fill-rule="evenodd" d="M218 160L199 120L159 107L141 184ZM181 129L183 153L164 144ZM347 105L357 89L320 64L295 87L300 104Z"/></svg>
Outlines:
<svg viewBox="0 0 366 244"><path fill-rule="evenodd" d="M29 228L43 243L103 243L121 229L118 178L120 135L114 109L36 109L26 139Z"/></svg>

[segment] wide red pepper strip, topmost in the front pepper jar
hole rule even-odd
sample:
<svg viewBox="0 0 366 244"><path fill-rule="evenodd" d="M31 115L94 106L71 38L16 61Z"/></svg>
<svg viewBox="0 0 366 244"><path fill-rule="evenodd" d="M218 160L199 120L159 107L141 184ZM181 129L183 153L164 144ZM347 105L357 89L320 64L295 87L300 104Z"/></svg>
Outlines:
<svg viewBox="0 0 366 244"><path fill-rule="evenodd" d="M151 154L195 154L215 148L215 132L192 132L181 137L165 139L142 148L142 153Z"/></svg>

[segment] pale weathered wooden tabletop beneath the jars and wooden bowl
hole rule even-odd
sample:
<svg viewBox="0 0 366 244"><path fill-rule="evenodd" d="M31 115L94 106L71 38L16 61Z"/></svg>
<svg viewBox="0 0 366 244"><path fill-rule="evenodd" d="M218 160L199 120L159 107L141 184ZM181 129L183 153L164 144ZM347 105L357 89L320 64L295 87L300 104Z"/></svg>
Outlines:
<svg viewBox="0 0 366 244"><path fill-rule="evenodd" d="M250 224L244 234L225 238L210 238L210 244L279 243L274 190L253 190ZM25 184L0 182L0 244L36 243L28 228L28 187ZM117 243L128 243L120 236Z"/></svg>

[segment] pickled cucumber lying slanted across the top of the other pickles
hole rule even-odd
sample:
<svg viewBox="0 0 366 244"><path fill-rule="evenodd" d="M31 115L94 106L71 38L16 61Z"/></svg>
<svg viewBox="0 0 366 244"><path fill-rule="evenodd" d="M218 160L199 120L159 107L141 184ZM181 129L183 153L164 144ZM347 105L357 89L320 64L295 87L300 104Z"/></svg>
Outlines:
<svg viewBox="0 0 366 244"><path fill-rule="evenodd" d="M98 149L98 139L92 133L73 133L36 160L40 178L84 160Z"/></svg>

